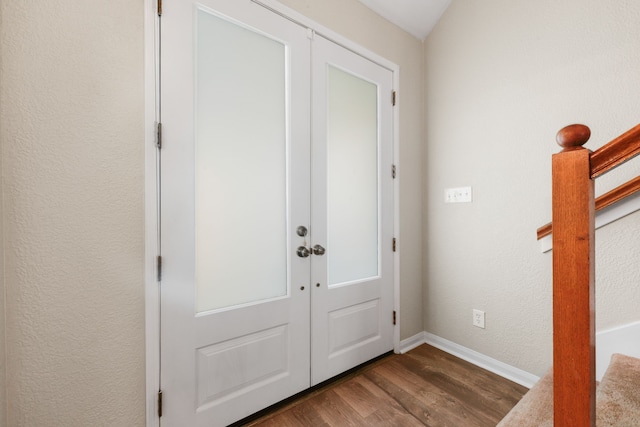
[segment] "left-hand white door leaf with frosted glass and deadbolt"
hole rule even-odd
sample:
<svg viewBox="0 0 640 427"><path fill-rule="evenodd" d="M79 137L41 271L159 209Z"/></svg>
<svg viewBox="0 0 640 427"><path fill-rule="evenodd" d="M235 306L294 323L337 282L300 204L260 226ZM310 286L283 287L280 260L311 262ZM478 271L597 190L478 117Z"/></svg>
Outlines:
<svg viewBox="0 0 640 427"><path fill-rule="evenodd" d="M308 41L249 1L161 37L161 422L226 425L309 386Z"/></svg>

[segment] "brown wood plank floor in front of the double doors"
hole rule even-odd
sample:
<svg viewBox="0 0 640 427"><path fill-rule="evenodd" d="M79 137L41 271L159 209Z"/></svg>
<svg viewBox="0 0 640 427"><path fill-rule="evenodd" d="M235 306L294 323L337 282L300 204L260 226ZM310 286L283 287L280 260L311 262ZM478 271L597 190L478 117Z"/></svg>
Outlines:
<svg viewBox="0 0 640 427"><path fill-rule="evenodd" d="M247 425L495 427L526 391L425 344L364 366Z"/></svg>

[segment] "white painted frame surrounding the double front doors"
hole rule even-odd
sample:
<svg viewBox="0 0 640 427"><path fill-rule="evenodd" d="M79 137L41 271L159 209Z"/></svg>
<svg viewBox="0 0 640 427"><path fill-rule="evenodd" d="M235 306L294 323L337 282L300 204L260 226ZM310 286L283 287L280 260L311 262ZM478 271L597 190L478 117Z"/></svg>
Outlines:
<svg viewBox="0 0 640 427"><path fill-rule="evenodd" d="M274 13L294 20L316 33L333 41L352 52L361 55L370 61L381 65L393 72L393 88L400 93L400 68L397 64L371 52L370 50L348 40L334 31L317 24L304 15L288 8L276 0L252 0ZM145 34L145 337L146 337L146 425L158 426L158 391L160 389L160 299L157 281L157 256L158 242L158 151L156 148L158 121L158 16L157 0L145 0L144 34ZM396 103L393 109L393 164L398 172L399 165L399 106ZM393 235L400 235L400 173L396 174L393 183L393 211L394 226ZM393 332L393 348L395 353L400 352L400 252L401 245L398 242L394 253L394 301L393 309L396 312L396 325Z"/></svg>

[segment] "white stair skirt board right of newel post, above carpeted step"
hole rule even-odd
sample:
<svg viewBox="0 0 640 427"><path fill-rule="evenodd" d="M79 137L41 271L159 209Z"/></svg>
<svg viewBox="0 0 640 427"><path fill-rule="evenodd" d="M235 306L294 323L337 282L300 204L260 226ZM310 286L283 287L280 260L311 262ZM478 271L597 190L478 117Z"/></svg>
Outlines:
<svg viewBox="0 0 640 427"><path fill-rule="evenodd" d="M596 333L596 379L598 381L602 379L614 353L640 358L640 322Z"/></svg>

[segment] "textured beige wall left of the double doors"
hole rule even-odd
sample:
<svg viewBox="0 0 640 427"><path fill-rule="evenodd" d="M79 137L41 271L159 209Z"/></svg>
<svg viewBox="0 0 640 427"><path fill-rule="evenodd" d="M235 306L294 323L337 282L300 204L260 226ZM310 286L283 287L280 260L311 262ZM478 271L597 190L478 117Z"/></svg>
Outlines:
<svg viewBox="0 0 640 427"><path fill-rule="evenodd" d="M143 2L0 4L8 425L144 425Z"/></svg>

